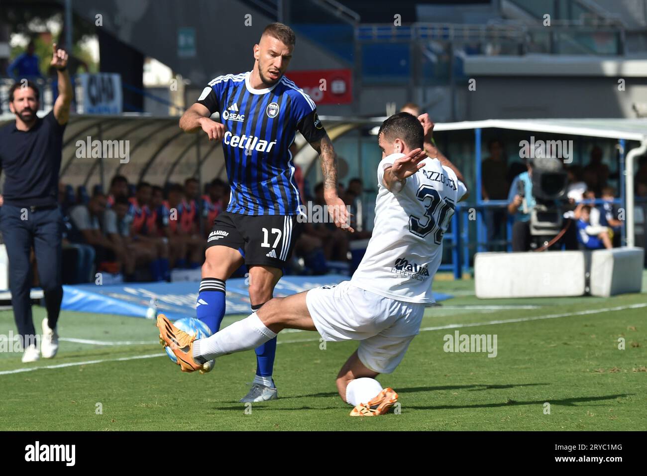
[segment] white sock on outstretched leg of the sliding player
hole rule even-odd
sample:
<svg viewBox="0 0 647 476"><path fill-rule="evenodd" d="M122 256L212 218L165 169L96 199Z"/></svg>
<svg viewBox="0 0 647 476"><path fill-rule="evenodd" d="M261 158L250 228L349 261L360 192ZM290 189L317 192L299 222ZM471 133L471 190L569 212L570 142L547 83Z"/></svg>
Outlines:
<svg viewBox="0 0 647 476"><path fill-rule="evenodd" d="M274 337L276 334L269 330L254 312L242 321L237 321L206 339L195 341L193 357L202 357L205 361L209 361L241 350L256 348Z"/></svg>

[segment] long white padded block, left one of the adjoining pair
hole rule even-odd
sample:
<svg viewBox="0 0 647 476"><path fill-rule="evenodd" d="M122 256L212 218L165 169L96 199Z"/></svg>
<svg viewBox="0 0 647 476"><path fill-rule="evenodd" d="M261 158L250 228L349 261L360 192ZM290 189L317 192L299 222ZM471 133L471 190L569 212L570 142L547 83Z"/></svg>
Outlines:
<svg viewBox="0 0 647 476"><path fill-rule="evenodd" d="M585 269L582 251L476 253L476 297L581 296Z"/></svg>

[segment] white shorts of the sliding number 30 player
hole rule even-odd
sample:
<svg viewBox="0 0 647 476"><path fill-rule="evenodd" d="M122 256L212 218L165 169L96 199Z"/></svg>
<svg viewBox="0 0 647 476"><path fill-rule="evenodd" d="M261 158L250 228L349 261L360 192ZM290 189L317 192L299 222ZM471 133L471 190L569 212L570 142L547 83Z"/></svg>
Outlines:
<svg viewBox="0 0 647 476"><path fill-rule="evenodd" d="M379 374L390 374L402 361L424 313L424 304L380 296L350 281L311 289L305 303L325 341L360 341L357 356Z"/></svg>

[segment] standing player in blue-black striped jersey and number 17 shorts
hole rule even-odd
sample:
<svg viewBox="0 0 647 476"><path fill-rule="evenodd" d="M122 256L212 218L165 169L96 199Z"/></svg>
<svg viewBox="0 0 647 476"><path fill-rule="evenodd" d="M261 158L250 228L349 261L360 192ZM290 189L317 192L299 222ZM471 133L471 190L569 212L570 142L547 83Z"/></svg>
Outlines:
<svg viewBox="0 0 647 476"><path fill-rule="evenodd" d="M294 42L291 28L268 25L254 45L252 71L214 78L180 119L182 130L202 130L210 141L223 142L231 187L229 205L207 239L196 305L197 318L213 332L225 315L225 281L236 269L242 264L249 268L249 296L256 311L272 299L291 256L300 197L289 148L297 131L320 155L325 201L334 223L353 231L337 194L333 145L316 106L284 76ZM221 122L210 119L214 113ZM256 377L241 402L278 398L272 379L275 352L276 339L256 348Z"/></svg>

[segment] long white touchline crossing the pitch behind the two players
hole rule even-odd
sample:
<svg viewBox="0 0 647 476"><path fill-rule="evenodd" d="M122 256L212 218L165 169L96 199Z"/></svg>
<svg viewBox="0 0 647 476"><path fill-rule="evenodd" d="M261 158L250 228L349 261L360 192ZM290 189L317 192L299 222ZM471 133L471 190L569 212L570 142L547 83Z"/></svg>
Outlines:
<svg viewBox="0 0 647 476"><path fill-rule="evenodd" d="M598 314L603 312L624 311L626 309L640 309L640 308L646 308L646 307L647 307L647 302L641 302L639 304L630 304L629 306L616 306L615 308L589 309L586 311L578 311L578 312L570 312L570 313L562 313L562 314L535 315L531 317L520 317L518 319L503 319L500 321L487 321L485 323L447 324L446 326L423 327L421 328L420 332L426 332L430 330L457 329L462 327L492 326L494 324L523 323L525 321L538 321L540 319L556 319L558 317ZM296 339L291 341L280 341L278 342L278 344L293 344L298 342L318 342L318 341L320 341L320 338ZM62 363L59 365L45 365L44 367L17 368L16 370L3 370L2 372L0 372L0 375L19 374L20 372L31 372L32 370L39 370L41 368L74 367L78 365L91 365L94 363L116 362L116 361L126 361L126 360L135 360L135 359L149 359L151 357L162 357L162 356L166 356L166 354L148 354L146 356L120 357L118 359L100 359L100 360L89 360L85 362Z"/></svg>

